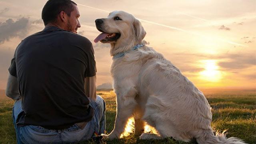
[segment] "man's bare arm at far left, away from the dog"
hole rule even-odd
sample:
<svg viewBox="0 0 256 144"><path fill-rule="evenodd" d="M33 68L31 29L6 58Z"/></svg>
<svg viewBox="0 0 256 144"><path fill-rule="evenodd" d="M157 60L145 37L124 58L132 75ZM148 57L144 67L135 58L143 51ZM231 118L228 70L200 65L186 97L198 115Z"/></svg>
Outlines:
<svg viewBox="0 0 256 144"><path fill-rule="evenodd" d="M6 96L14 100L18 100L21 98L18 90L18 80L15 76L12 76L10 73L8 76L5 93L6 93Z"/></svg>

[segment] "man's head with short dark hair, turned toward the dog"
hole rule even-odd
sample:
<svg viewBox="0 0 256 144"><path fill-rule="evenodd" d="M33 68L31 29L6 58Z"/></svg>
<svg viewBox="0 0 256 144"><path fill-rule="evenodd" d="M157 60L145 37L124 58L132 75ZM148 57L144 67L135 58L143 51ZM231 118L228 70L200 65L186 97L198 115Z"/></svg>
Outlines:
<svg viewBox="0 0 256 144"><path fill-rule="evenodd" d="M80 28L77 4L71 0L48 0L42 10L44 25L55 25L76 32ZM77 33L77 32L76 32Z"/></svg>

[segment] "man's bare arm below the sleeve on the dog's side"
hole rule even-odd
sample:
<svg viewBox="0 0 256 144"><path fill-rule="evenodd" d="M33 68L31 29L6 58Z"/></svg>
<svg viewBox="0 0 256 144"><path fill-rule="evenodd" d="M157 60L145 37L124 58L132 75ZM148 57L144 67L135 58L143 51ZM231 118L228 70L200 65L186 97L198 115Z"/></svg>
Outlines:
<svg viewBox="0 0 256 144"><path fill-rule="evenodd" d="M96 100L96 76L86 77L84 79L84 90L86 96Z"/></svg>

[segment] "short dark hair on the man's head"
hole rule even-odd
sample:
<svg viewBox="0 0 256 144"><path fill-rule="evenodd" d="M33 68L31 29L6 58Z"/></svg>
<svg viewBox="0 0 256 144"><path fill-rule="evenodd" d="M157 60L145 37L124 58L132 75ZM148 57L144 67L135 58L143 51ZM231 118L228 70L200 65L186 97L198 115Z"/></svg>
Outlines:
<svg viewBox="0 0 256 144"><path fill-rule="evenodd" d="M55 22L58 14L64 11L68 16L74 10L74 5L77 5L72 0L48 0L42 10L42 20L44 25L49 22Z"/></svg>

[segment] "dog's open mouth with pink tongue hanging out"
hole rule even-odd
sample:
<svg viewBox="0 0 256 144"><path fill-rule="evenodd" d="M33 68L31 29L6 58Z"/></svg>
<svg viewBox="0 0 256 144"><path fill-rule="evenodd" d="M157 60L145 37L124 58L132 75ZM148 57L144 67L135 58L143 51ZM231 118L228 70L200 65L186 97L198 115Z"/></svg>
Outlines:
<svg viewBox="0 0 256 144"><path fill-rule="evenodd" d="M116 41L118 38L120 38L121 34L119 33L112 33L108 34L106 32L102 32L100 35L95 38L94 42L97 43L99 41L101 42L112 42Z"/></svg>

